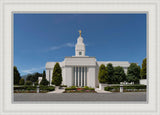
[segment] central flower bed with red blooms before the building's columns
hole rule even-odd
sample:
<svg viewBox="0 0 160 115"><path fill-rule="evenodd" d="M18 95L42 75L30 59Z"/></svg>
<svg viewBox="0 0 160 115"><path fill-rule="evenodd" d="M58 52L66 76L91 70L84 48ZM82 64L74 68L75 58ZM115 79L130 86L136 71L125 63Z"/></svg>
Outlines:
<svg viewBox="0 0 160 115"><path fill-rule="evenodd" d="M85 87L76 87L76 86L71 86L65 88L64 93L96 93L94 88L85 86Z"/></svg>

